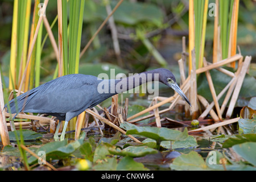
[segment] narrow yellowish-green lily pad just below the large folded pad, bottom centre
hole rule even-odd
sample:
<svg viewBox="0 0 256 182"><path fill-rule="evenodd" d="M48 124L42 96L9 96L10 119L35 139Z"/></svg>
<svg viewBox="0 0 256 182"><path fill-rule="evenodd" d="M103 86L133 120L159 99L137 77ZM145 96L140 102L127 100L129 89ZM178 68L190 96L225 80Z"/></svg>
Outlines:
<svg viewBox="0 0 256 182"><path fill-rule="evenodd" d="M129 146L121 150L121 148L109 148L110 154L131 156L132 158L139 158L148 154L156 154L157 150L147 146Z"/></svg>

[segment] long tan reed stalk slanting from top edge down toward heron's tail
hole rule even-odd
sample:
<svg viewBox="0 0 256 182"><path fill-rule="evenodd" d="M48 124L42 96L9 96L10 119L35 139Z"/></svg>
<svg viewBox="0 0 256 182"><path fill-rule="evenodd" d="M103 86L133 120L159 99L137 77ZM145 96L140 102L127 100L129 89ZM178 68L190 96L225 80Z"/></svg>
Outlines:
<svg viewBox="0 0 256 182"><path fill-rule="evenodd" d="M21 91L22 86L23 86L23 83L24 83L24 79L25 79L25 76L26 76L27 68L28 68L28 65L29 65L29 63L30 63L30 58L31 58L31 56L32 56L32 51L33 51L33 49L34 49L35 42L36 42L36 38L37 38L38 32L39 32L39 28L40 28L40 25L41 25L42 20L43 20L43 15L46 13L46 7L47 7L47 5L48 5L48 1L49 1L49 0L45 0L45 1L44 1L44 6L43 6L43 8L42 8L41 15L40 15L39 20L38 20L38 25L36 26L35 35L34 35L34 38L33 38L33 40L32 40L32 44L31 44L31 47L30 47L30 52L28 53L26 68L24 69L24 73L23 73L23 76L22 76L22 80L20 81L20 85L19 85L19 90L18 90L17 96L19 96L20 91Z"/></svg>

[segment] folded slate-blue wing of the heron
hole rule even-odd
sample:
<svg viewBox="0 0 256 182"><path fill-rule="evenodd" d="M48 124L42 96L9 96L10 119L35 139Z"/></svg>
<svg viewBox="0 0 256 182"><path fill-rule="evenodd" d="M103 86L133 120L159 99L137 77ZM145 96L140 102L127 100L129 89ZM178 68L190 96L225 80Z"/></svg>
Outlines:
<svg viewBox="0 0 256 182"><path fill-rule="evenodd" d="M67 75L49 81L16 98L19 111L67 113L88 107L97 95L97 77ZM12 108L12 107L11 107ZM15 107L11 111L16 113Z"/></svg>

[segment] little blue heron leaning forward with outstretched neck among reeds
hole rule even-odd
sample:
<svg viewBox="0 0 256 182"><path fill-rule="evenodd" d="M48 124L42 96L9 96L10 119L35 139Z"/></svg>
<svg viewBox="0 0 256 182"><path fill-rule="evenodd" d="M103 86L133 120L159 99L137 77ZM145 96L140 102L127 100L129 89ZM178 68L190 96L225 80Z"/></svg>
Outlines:
<svg viewBox="0 0 256 182"><path fill-rule="evenodd" d="M160 81L171 87L191 106L188 98L176 84L171 71L154 69L118 80L101 80L92 75L72 74L46 82L9 102L10 113L44 113L65 121L60 140L65 138L68 121L115 94L133 89L149 81ZM102 91L103 90L103 91ZM5 105L7 107L7 105ZM60 122L54 139L58 139Z"/></svg>

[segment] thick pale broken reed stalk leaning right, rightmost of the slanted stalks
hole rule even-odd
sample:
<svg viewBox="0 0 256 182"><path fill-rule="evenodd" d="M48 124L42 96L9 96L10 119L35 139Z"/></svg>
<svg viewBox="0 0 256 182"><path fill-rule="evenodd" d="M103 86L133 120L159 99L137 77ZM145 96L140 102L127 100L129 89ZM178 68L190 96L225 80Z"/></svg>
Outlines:
<svg viewBox="0 0 256 182"><path fill-rule="evenodd" d="M243 61L243 66L241 68L241 72L238 76L239 79L237 80L236 87L234 88L234 92L233 92L232 98L229 103L228 111L226 111L226 118L228 118L228 119L231 117L231 115L233 113L234 106L237 102L238 95L242 88L243 79L245 78L245 75L246 75L247 69L250 66L250 63L251 63L251 56L246 56L245 61Z"/></svg>

